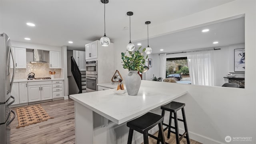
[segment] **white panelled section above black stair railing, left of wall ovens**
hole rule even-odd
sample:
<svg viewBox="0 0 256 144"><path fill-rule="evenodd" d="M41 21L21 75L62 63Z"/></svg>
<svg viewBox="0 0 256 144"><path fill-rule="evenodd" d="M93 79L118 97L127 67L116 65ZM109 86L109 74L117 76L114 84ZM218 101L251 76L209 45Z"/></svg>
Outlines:
<svg viewBox="0 0 256 144"><path fill-rule="evenodd" d="M73 57L76 60L76 64L80 71L86 71L85 69L85 52L79 50L73 50Z"/></svg>

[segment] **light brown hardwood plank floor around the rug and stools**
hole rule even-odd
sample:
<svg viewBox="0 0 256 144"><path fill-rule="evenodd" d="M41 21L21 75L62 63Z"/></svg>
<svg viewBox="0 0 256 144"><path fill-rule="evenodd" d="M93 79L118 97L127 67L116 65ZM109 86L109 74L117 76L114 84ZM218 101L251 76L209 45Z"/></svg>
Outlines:
<svg viewBox="0 0 256 144"><path fill-rule="evenodd" d="M18 118L15 118L11 123L10 144L75 144L74 101L56 100L42 103L41 106L53 119L16 128ZM12 110L16 111L16 108ZM154 135L157 136L157 133ZM165 136L167 138L167 130ZM176 144L175 136L171 135L166 142ZM149 138L149 143L156 144L156 140ZM194 140L190 140L190 143L201 144ZM180 144L186 144L186 139L183 138Z"/></svg>

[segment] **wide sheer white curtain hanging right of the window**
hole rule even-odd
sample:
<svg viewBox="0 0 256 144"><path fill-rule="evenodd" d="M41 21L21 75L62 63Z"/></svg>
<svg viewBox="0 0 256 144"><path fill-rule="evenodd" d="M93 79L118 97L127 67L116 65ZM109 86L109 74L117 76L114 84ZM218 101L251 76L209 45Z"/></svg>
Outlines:
<svg viewBox="0 0 256 144"><path fill-rule="evenodd" d="M214 50L187 52L192 84L215 86Z"/></svg>

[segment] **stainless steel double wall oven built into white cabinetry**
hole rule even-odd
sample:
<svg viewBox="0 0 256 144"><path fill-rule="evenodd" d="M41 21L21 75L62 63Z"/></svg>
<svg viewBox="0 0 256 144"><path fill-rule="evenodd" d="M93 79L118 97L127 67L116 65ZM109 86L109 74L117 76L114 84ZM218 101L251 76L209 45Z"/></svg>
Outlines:
<svg viewBox="0 0 256 144"><path fill-rule="evenodd" d="M98 91L98 61L86 62L86 92Z"/></svg>

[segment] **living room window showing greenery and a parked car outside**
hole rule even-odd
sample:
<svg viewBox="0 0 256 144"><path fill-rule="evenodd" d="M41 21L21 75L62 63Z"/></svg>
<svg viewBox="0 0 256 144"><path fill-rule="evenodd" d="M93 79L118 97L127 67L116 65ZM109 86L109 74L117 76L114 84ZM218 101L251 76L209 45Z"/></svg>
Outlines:
<svg viewBox="0 0 256 144"><path fill-rule="evenodd" d="M166 78L174 78L177 83L191 84L187 57L166 58Z"/></svg>

